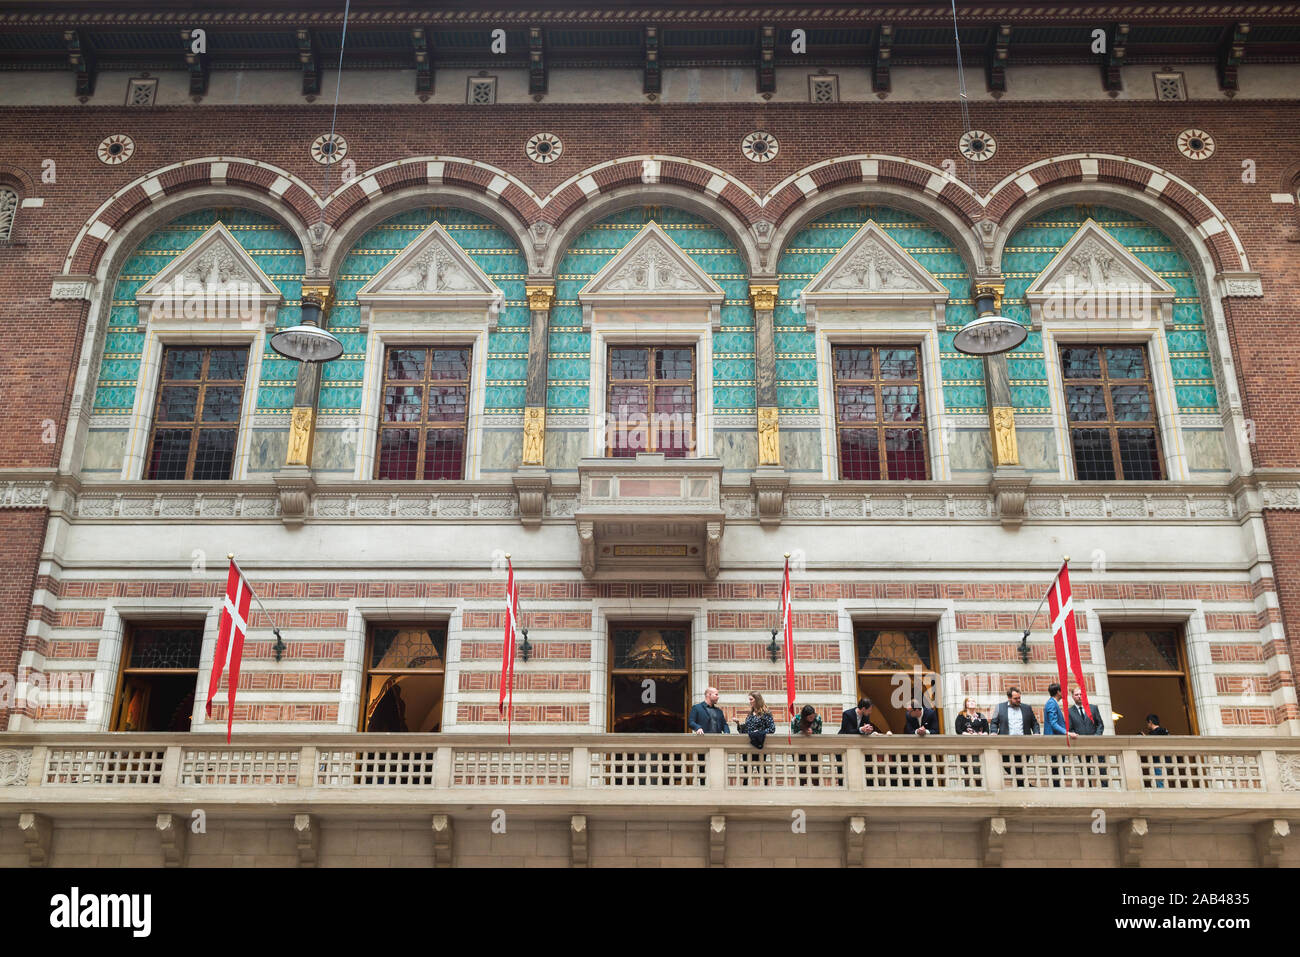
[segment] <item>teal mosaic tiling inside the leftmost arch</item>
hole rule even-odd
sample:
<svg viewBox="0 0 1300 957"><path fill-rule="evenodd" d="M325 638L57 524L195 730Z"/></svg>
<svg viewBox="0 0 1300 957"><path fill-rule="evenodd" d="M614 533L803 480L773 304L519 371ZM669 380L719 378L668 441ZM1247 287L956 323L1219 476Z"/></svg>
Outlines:
<svg viewBox="0 0 1300 957"><path fill-rule="evenodd" d="M298 324L304 261L292 230L250 209L221 207L186 213L156 229L136 246L113 283L109 328L95 387L96 412L130 412L135 404L139 359L144 348L144 335L135 333L139 324L136 291L216 222L222 222L230 230L285 296L277 325ZM257 408L289 408L292 404L292 389L289 390L290 400L280 404L282 389L278 386L286 381L292 385L296 377L298 363L281 360L268 345L263 354L259 384L263 387L259 389Z"/></svg>

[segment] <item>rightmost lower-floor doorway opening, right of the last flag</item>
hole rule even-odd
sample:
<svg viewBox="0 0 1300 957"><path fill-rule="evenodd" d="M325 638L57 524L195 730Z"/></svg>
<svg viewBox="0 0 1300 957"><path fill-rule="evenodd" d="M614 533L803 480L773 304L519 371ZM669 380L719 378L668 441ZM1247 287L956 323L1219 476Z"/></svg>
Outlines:
<svg viewBox="0 0 1300 957"><path fill-rule="evenodd" d="M1156 714L1170 735L1196 735L1182 628L1104 628L1101 644L1110 681L1110 719L1117 735L1141 735Z"/></svg>

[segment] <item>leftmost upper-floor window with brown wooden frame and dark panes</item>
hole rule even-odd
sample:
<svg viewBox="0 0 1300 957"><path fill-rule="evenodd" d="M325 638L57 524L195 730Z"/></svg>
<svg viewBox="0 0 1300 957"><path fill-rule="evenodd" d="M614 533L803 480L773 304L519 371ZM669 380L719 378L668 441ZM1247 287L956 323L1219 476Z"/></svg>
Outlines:
<svg viewBox="0 0 1300 957"><path fill-rule="evenodd" d="M248 350L168 346L146 478L229 478Z"/></svg>

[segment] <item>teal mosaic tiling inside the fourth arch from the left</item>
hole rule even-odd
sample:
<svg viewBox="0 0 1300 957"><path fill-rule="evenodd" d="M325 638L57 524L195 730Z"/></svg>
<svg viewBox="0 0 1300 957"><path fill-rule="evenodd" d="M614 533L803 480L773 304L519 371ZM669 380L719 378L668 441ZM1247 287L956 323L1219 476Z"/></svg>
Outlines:
<svg viewBox="0 0 1300 957"><path fill-rule="evenodd" d="M945 312L948 326L959 326L975 317L966 264L952 241L941 231L910 213L889 207L854 205L826 213L792 237L776 263L777 300L772 317L776 324L777 398L783 411L816 411L816 368L812 361L816 358L816 339L812 333L806 332L805 316L797 311L798 294L844 248L844 244L872 220L948 287L950 295ZM974 380L980 385L976 390L958 389L952 393L971 402L979 397L978 407L953 408L949 404L948 411L983 411L983 365L962 361L963 356L952 348L952 334L942 342L945 342L941 346L945 382L950 380L967 385ZM814 386L811 399L809 380ZM945 400L948 403L953 400L948 393Z"/></svg>

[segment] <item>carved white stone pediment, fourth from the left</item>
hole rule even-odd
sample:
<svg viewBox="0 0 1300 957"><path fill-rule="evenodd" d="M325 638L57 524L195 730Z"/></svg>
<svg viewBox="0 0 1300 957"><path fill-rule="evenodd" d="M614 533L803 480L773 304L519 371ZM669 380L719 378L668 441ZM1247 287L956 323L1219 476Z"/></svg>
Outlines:
<svg viewBox="0 0 1300 957"><path fill-rule="evenodd" d="M942 321L948 287L913 259L875 221L862 226L801 295L807 324L816 324L818 307L928 306Z"/></svg>

